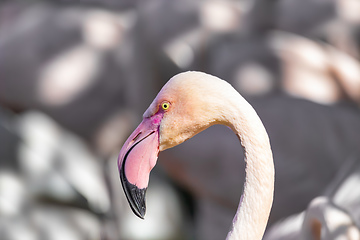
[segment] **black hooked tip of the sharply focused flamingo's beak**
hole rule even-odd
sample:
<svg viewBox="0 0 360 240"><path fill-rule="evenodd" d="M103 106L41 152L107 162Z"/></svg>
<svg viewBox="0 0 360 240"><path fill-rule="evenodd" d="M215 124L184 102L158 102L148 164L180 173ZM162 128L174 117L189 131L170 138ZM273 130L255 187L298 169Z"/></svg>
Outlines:
<svg viewBox="0 0 360 240"><path fill-rule="evenodd" d="M131 210L136 216L144 219L146 213L145 195L147 188L139 189L134 184L131 184L123 171L120 171L120 180Z"/></svg>

